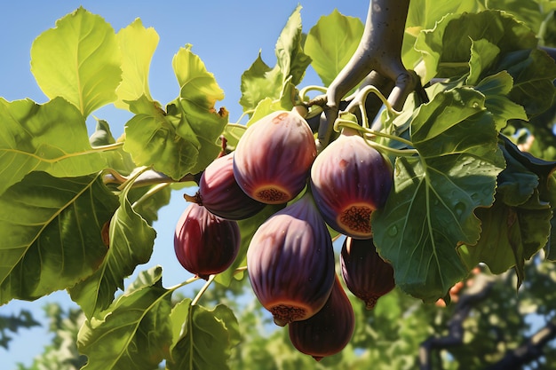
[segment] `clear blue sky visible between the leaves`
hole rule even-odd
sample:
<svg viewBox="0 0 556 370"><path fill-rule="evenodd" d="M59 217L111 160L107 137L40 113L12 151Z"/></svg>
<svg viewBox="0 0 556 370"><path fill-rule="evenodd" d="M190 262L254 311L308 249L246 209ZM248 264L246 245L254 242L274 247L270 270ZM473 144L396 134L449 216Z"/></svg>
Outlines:
<svg viewBox="0 0 556 370"><path fill-rule="evenodd" d="M31 43L44 30L53 28L56 20L83 6L101 15L116 32L136 18L140 18L145 27L155 28L160 41L152 60L149 84L153 98L163 105L179 94L171 59L181 46L193 44L192 51L203 59L225 91L226 98L217 106L226 106L230 121L234 122L242 114L238 101L241 98L240 78L243 71L257 58L258 51L268 65L274 66L274 43L298 4L303 6L301 16L304 31L308 32L322 15L328 15L334 9L364 20L368 3L317 0L9 2L3 4L0 12L0 97L7 100L31 98L38 103L47 101L30 72ZM321 84L312 70L301 83L302 86L309 84ZM93 115L107 120L115 136L123 132L124 123L131 117L129 113L112 106L101 108ZM94 124L92 120L88 123L90 127ZM159 221L155 223L158 236L153 257L148 264L138 267L138 270L144 270L161 264L165 286L189 277L189 273L176 261L172 244L173 228L184 206L181 193L174 193L171 204L161 209ZM60 302L65 307L73 306L68 295L62 291L33 303L12 301L0 306L0 314L9 315L25 308L41 319L44 318L44 303L52 301ZM31 364L32 358L41 353L49 341L46 325L21 331L11 342L9 351L0 348L2 369L15 369L17 362Z"/></svg>

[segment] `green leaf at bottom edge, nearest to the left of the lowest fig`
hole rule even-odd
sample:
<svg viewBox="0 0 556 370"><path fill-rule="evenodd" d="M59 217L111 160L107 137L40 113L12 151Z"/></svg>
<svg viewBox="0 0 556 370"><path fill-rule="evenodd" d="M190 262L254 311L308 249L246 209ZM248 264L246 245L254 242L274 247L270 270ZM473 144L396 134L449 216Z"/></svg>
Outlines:
<svg viewBox="0 0 556 370"><path fill-rule="evenodd" d="M184 300L171 312L174 341L168 370L228 369L231 347L239 342L234 313L223 304L214 310Z"/></svg>

